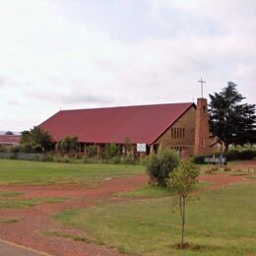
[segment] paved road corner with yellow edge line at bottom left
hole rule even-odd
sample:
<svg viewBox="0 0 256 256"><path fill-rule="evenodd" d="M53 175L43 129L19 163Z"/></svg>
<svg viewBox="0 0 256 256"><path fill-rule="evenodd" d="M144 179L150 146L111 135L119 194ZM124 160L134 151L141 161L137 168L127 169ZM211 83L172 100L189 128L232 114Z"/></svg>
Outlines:
<svg viewBox="0 0 256 256"><path fill-rule="evenodd" d="M38 252L0 239L0 256L46 256L49 254Z"/></svg>

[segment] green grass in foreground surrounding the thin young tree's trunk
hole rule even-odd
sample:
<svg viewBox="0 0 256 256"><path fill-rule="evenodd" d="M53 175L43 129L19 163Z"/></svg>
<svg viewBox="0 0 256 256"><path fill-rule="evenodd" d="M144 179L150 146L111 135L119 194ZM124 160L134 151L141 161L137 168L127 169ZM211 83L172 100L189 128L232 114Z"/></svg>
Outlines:
<svg viewBox="0 0 256 256"><path fill-rule="evenodd" d="M173 199L165 195L119 204L101 202L90 209L59 213L55 219L131 255L254 255L255 195L256 184L235 184L190 201L185 239L192 247L183 251L172 247L180 242L180 219Z"/></svg>

